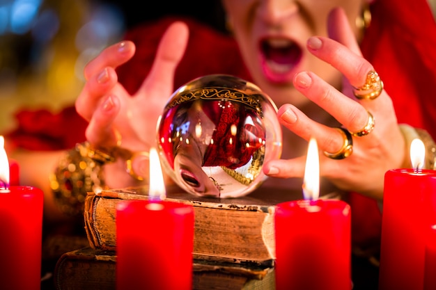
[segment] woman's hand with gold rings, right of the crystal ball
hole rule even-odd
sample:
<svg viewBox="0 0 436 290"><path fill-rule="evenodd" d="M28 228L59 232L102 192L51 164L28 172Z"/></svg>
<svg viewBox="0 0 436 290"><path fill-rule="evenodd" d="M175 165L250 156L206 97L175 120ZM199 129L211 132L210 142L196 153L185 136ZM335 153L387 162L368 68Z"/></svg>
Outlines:
<svg viewBox="0 0 436 290"><path fill-rule="evenodd" d="M353 95L355 88L367 83L367 75L374 69L361 56L341 8L333 10L329 16L329 35L331 38L310 38L307 47L312 54L342 72L342 92L312 72L297 74L295 88L350 132L359 132L366 127L371 121L368 112L373 115L375 126L365 136L352 136L350 156L336 160L321 153L320 174L344 191L381 199L384 173L399 168L405 160L405 140L397 124L392 100L385 90L375 99L357 99ZM283 105L278 114L281 123L295 134L306 140L316 138L318 147L324 152L338 152L344 145L346 138L341 131L311 120L295 106ZM305 158L301 157L271 161L264 170L274 172L271 175L274 177L302 177L304 166ZM272 168L275 169L271 171Z"/></svg>

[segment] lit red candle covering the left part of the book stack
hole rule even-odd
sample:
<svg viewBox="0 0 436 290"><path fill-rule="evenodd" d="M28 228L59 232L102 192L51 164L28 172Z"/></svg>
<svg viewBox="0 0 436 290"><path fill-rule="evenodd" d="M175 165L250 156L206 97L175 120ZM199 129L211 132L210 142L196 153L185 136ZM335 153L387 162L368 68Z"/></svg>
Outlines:
<svg viewBox="0 0 436 290"><path fill-rule="evenodd" d="M162 200L162 170L152 149L150 175L156 172L149 200L123 201L116 208L118 290L192 289L194 208Z"/></svg>

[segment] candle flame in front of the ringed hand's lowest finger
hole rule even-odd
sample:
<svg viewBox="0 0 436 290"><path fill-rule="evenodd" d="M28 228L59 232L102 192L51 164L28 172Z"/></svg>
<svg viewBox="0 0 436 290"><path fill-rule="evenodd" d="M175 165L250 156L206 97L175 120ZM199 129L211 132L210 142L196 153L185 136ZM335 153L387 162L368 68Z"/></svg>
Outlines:
<svg viewBox="0 0 436 290"><path fill-rule="evenodd" d="M305 200L318 200L320 196L320 157L315 138L309 140L304 169L303 195Z"/></svg>

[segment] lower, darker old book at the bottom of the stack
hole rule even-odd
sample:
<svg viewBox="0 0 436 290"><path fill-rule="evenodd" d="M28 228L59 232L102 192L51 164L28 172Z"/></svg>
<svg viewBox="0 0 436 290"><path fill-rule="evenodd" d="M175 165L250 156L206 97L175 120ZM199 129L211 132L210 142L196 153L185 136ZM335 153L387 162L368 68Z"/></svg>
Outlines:
<svg viewBox="0 0 436 290"><path fill-rule="evenodd" d="M194 290L275 289L274 267L194 259ZM54 270L58 290L116 289L116 252L81 248L61 256Z"/></svg>

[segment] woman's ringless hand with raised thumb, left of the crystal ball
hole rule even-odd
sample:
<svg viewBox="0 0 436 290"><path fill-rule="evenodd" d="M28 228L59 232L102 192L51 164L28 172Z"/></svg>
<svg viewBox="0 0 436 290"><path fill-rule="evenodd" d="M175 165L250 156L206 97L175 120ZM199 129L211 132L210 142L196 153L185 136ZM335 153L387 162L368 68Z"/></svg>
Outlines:
<svg viewBox="0 0 436 290"><path fill-rule="evenodd" d="M185 53L188 35L182 22L169 26L159 42L150 73L134 95L118 82L115 70L134 55L133 42L107 47L86 65L86 84L75 106L79 115L89 122L86 138L93 147L107 152L118 146L132 152L148 152L156 145L157 119L173 92L174 72ZM114 174L125 173L125 160L114 167L117 168L112 168ZM113 182L110 180L107 178L111 187L130 185L109 184Z"/></svg>

